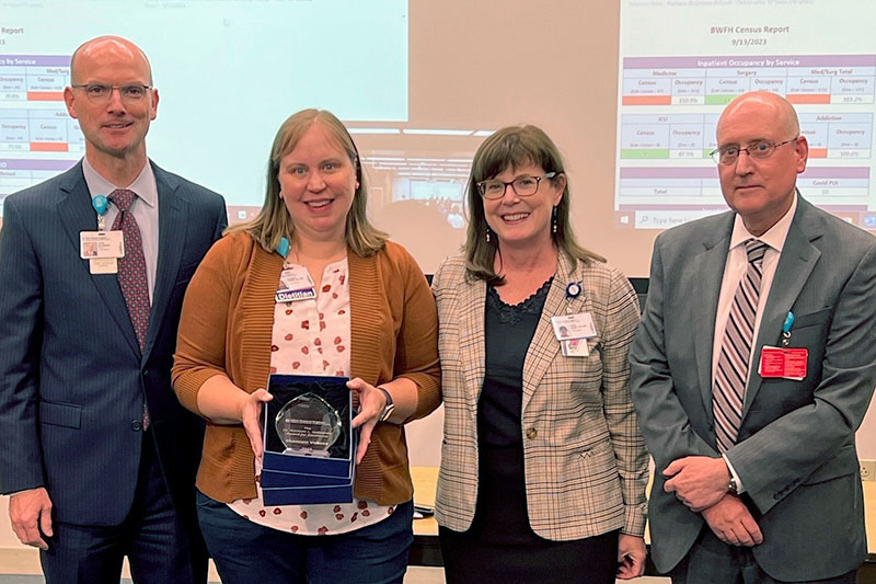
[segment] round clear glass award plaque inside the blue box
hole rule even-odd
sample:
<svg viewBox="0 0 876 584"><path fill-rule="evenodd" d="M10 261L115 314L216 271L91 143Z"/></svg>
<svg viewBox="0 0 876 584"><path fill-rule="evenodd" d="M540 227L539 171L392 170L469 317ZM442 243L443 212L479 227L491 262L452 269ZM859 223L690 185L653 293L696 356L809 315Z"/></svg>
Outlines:
<svg viewBox="0 0 876 584"><path fill-rule="evenodd" d="M341 414L320 396L308 392L286 402L274 420L285 455L327 457L343 433Z"/></svg>

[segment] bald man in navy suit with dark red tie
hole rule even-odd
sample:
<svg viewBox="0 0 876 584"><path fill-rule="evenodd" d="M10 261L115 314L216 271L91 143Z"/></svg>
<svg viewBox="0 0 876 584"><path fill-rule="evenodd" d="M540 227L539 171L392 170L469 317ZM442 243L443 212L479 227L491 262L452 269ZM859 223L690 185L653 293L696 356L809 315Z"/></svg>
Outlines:
<svg viewBox="0 0 876 584"><path fill-rule="evenodd" d="M227 225L224 202L147 158L159 94L136 45L92 39L70 77L85 157L3 205L0 491L49 583L118 582L126 556L135 582L205 582L203 426L170 369L183 295ZM93 257L99 230L124 238L123 257Z"/></svg>

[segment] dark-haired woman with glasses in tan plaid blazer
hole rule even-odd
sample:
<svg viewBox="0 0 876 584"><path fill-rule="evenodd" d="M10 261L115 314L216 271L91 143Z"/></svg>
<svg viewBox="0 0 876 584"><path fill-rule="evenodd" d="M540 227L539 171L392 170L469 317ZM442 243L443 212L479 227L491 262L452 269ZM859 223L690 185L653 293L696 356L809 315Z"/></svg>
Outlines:
<svg viewBox="0 0 876 584"><path fill-rule="evenodd" d="M623 274L575 242L563 169L534 126L487 138L463 254L433 282L449 583L613 583L644 571L648 457L626 358L638 305Z"/></svg>

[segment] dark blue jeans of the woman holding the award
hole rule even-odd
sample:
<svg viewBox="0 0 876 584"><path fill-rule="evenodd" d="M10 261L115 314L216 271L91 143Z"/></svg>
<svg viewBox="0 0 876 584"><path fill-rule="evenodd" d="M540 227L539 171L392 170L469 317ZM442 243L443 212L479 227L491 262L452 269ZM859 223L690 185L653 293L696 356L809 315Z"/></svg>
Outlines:
<svg viewBox="0 0 876 584"><path fill-rule="evenodd" d="M414 541L413 513L408 501L361 529L299 536L244 519L198 492L198 522L224 584L401 584Z"/></svg>

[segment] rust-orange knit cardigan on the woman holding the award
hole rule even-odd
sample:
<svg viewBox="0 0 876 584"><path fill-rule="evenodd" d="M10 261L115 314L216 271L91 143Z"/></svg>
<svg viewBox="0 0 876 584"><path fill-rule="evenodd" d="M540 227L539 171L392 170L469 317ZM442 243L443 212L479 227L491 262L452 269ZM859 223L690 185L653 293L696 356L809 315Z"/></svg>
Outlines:
<svg viewBox="0 0 876 584"><path fill-rule="evenodd" d="M350 373L371 385L396 377L417 386L423 417L441 402L435 300L416 262L388 242L370 257L347 254L350 295ZM245 233L216 242L188 285L180 320L173 389L204 416L197 394L215 375L244 391L267 387L274 293L283 257ZM253 454L242 425L207 421L197 488L222 502L256 496ZM410 501L404 426L379 423L356 469L357 497L392 505Z"/></svg>

